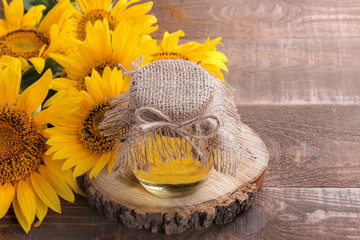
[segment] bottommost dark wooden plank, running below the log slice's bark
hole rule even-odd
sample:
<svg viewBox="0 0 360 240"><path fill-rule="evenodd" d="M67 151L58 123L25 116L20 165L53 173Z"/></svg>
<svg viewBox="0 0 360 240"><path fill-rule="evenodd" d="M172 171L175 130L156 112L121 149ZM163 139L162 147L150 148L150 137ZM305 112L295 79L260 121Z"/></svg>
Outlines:
<svg viewBox="0 0 360 240"><path fill-rule="evenodd" d="M27 235L10 212L0 221L1 239L360 239L359 188L264 187L233 222L170 236L109 222L82 197L62 206Z"/></svg>

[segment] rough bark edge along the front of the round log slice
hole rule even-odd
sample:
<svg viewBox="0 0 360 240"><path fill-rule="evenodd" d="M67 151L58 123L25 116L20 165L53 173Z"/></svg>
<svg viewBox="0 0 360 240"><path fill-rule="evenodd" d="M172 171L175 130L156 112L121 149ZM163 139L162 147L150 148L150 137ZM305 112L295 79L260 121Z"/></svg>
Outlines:
<svg viewBox="0 0 360 240"><path fill-rule="evenodd" d="M231 194L216 200L187 206L149 207L137 206L138 202L125 202L114 196L116 192L104 191L89 176L79 178L81 188L86 192L89 205L103 213L109 221L120 222L130 229L146 229L153 233L180 234L188 229L208 228L212 223L221 225L231 222L238 214L244 213L255 199L256 184L239 187ZM135 185L135 184L134 184ZM140 189L140 186L138 186ZM116 189L127 194L123 189ZM152 196L144 192L144 199L152 202ZM159 199L165 200L166 199Z"/></svg>

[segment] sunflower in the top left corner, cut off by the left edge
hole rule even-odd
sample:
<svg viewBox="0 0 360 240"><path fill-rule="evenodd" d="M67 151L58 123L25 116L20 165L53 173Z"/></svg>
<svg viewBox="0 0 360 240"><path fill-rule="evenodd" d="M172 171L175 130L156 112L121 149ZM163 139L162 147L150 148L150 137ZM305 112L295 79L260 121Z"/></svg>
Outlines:
<svg viewBox="0 0 360 240"><path fill-rule="evenodd" d="M81 43L71 37L71 25L66 24L75 12L69 0L60 0L43 19L44 5L34 6L24 14L22 0L2 2L6 19L0 20L0 56L19 58L23 69L30 66L29 61L41 73L49 53L63 52Z"/></svg>

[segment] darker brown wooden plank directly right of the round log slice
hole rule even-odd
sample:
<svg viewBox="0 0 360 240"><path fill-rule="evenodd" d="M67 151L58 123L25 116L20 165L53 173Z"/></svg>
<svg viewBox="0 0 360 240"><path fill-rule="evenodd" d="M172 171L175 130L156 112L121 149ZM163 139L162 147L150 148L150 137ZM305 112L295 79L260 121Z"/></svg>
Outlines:
<svg viewBox="0 0 360 240"><path fill-rule="evenodd" d="M360 187L360 105L238 105L267 145L264 186Z"/></svg>

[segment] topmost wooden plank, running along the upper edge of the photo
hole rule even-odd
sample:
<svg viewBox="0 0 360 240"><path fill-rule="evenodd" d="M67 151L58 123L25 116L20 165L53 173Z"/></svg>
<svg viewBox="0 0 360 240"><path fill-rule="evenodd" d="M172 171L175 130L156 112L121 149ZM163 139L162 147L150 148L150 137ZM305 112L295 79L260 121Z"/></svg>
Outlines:
<svg viewBox="0 0 360 240"><path fill-rule="evenodd" d="M160 32L183 29L189 38L329 39L359 37L356 0L154 1Z"/></svg>

